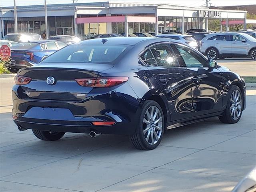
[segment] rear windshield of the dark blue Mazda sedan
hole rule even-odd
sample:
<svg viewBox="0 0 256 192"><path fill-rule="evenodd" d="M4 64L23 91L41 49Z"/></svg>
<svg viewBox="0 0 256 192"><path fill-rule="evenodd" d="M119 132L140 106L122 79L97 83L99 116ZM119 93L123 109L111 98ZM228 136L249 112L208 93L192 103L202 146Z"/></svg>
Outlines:
<svg viewBox="0 0 256 192"><path fill-rule="evenodd" d="M130 47L130 46L129 46ZM112 62L128 49L127 45L92 45L71 44L45 60L42 63L58 62L83 62L83 63L106 63Z"/></svg>

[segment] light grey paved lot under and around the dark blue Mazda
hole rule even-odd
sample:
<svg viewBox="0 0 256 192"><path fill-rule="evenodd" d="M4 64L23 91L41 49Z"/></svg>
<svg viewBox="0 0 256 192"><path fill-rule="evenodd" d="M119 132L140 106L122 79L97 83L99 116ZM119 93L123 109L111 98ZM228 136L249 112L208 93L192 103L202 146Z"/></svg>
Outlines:
<svg viewBox="0 0 256 192"><path fill-rule="evenodd" d="M218 60L240 72L248 63L244 73L256 76L255 61L227 61ZM12 122L13 78L0 83L1 192L228 192L256 165L256 88L247 90L237 124L212 118L175 128L155 150L140 151L127 136L67 133L46 142L20 132Z"/></svg>

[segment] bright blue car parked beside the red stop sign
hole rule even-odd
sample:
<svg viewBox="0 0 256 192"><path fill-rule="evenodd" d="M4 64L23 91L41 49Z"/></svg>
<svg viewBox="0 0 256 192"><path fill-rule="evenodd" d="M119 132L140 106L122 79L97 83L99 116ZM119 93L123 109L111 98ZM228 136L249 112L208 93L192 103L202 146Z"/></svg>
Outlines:
<svg viewBox="0 0 256 192"><path fill-rule="evenodd" d="M24 67L30 67L44 60L66 44L54 40L37 40L25 43L18 43L11 47L11 61L6 67L11 72L17 72Z"/></svg>

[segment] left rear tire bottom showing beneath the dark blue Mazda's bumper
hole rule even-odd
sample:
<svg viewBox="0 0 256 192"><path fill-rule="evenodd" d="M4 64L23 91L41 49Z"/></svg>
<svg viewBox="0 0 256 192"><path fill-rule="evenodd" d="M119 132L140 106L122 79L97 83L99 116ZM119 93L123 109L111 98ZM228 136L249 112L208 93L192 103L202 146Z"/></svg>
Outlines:
<svg viewBox="0 0 256 192"><path fill-rule="evenodd" d="M41 131L41 130L32 130L32 132L38 139L41 139L44 141L56 141L62 138L65 134L65 132L50 133L50 131Z"/></svg>

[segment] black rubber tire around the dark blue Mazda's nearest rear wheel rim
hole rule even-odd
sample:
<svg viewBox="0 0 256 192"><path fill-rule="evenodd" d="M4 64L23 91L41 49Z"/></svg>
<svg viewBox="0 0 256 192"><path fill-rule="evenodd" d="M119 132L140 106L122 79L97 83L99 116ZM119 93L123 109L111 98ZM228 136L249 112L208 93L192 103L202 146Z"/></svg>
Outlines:
<svg viewBox="0 0 256 192"><path fill-rule="evenodd" d="M159 115L157 116L157 118L162 120L162 122L161 122L162 123L162 131L160 131L158 129L154 130L155 133L158 134L157 136L159 136L158 140L156 139L156 143L154 143L155 142L154 139L156 138L156 135L153 134L154 126L152 126L151 123L149 125L149 124L145 124L145 122L144 122L144 117L146 117L146 112L148 110L152 109L152 107L153 107L153 112L156 112L157 109L159 110L159 112L161 114L161 118L160 118L159 112L158 112ZM146 128L145 128L145 125L146 125ZM150 126L152 126L151 129L149 128ZM160 127L160 126L158 126L158 127ZM148 131L145 132L145 134L143 133L143 131L145 130L144 128L148 129ZM153 100L146 100L144 102L143 106L142 106L142 112L140 114L140 118L139 118L139 122L138 122L138 125L137 125L137 128L136 128L136 131L134 132L134 134L132 134L130 136L130 140L131 140L132 144L134 145L134 147L137 148L137 149L152 150L160 144L160 142L162 140L162 136L164 134L164 128L165 128L165 120L164 120L164 113L162 111L161 106ZM150 134L150 138L147 137L148 141L145 138L146 134L147 134L147 136ZM153 137L153 142L152 142L151 134L153 135L152 136ZM151 144L149 144L150 141L151 141ZM154 143L154 144L152 144L152 143Z"/></svg>

